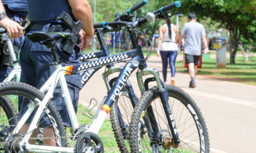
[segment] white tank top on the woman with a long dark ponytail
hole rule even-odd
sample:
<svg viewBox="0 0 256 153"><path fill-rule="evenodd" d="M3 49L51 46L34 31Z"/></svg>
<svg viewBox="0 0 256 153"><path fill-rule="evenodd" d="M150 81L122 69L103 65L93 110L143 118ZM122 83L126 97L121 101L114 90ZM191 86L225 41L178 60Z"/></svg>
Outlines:
<svg viewBox="0 0 256 153"><path fill-rule="evenodd" d="M167 31L163 34L163 41L161 43L159 50L161 50L161 51L178 50L178 44L175 43L176 33L174 33L174 31L172 29L172 40L171 40L169 37L169 31L168 31L167 24L164 24L164 26L167 28ZM173 26L174 25L171 24L171 27L173 27Z"/></svg>

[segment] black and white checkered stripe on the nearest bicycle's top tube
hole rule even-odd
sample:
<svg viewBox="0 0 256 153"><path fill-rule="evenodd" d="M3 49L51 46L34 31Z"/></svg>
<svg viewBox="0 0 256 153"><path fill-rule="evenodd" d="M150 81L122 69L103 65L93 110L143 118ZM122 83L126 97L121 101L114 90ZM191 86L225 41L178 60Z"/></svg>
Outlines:
<svg viewBox="0 0 256 153"><path fill-rule="evenodd" d="M128 58L127 54L121 54L121 55L108 57L106 59L99 59L97 61L86 62L85 64L80 65L80 67L78 68L78 71L80 71L82 69L92 68L95 66L101 66L101 65L108 64L111 62L121 61L122 59L127 59L127 58Z"/></svg>

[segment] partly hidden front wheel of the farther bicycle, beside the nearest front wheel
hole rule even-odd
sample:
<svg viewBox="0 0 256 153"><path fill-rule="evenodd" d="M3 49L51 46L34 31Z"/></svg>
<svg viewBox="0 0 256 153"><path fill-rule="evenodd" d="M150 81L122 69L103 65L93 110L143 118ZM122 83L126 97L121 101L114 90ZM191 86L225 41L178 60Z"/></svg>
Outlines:
<svg viewBox="0 0 256 153"><path fill-rule="evenodd" d="M129 148L127 145L129 145L129 124L131 122L133 107L129 98L129 94L127 94L125 91L122 91L116 101L117 102L114 103L110 110L111 125L120 152L129 153ZM121 128L118 119L118 108L122 109L120 113L122 119L124 120L125 128Z"/></svg>

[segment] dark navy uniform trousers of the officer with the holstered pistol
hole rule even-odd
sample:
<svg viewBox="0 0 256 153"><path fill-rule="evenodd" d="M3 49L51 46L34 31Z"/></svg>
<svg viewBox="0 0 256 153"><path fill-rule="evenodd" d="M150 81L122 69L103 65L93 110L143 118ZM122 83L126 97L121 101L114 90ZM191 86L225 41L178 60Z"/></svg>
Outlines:
<svg viewBox="0 0 256 153"><path fill-rule="evenodd" d="M51 24L45 24L42 31L48 32L50 25ZM77 64L80 62L82 54L80 48L77 45L74 48L72 54L61 52L61 49L58 47L58 45L56 48L58 57L62 61L62 66ZM51 50L49 48L45 47L45 45L41 45L40 43L32 43L28 40L28 38L25 38L24 45L22 45L20 50L20 66L22 69L20 82L33 85L37 89L40 89L40 87L42 87L42 85L55 71L55 67L50 65L51 62L53 62L53 59ZM67 80L68 91L70 92L74 110L77 112L79 89L81 88L80 75L77 73L73 75L67 75L65 78ZM67 106L63 100L59 83L54 90L54 95L51 101L60 112L65 126L70 127L71 123L66 109ZM19 110L22 110L24 107L24 105L19 103ZM27 122L31 122L31 117L29 117ZM41 124L42 127L49 126L49 120L44 118L41 120L41 122L43 122Z"/></svg>

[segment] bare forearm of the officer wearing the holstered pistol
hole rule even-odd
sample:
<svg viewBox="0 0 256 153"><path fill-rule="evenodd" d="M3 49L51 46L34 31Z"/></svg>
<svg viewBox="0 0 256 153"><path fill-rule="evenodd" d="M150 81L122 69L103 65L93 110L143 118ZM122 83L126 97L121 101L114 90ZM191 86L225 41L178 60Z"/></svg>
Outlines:
<svg viewBox="0 0 256 153"><path fill-rule="evenodd" d="M68 0L74 17L83 22L83 30L87 36L93 38L92 9L87 0Z"/></svg>

